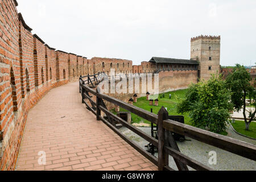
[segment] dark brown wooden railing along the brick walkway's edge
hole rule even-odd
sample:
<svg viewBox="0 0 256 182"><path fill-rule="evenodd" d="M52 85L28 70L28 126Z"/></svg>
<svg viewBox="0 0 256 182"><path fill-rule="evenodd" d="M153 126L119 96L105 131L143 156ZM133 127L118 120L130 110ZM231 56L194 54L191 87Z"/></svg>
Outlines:
<svg viewBox="0 0 256 182"><path fill-rule="evenodd" d="M84 78L86 79L84 80ZM182 154L175 142L174 137L172 136L172 132L210 144L211 146L221 148L223 150L232 152L233 154L243 156L247 159L254 161L256 160L256 146L253 144L172 121L168 119L168 112L166 109L164 109L164 107L162 107L159 110L158 115L156 115L134 105L127 104L126 102L118 100L117 98L113 98L101 93L100 88L96 88L96 85L104 79L108 79L108 76L106 76L105 73L80 77L79 88L82 96L82 103L84 103L87 106L87 109L96 115L97 121L103 121L127 143L129 143L148 160L158 166L160 171L174 171L174 169L169 167L169 156L174 158L176 166L180 171L188 171L188 166L196 170L212 170L212 168ZM96 90L94 90L94 88L96 88ZM96 97L96 101L93 101L93 96ZM127 111L130 111L131 113L134 113L139 117L158 125L158 140L110 112L106 107L105 102L111 102L114 105L120 106L123 109L126 109ZM102 117L101 113L105 113L106 117ZM157 147L158 158L151 155L130 138L126 137L125 134L117 129L115 125L116 122L122 124L124 127L127 127L127 129L130 129L135 134L138 134L140 137Z"/></svg>

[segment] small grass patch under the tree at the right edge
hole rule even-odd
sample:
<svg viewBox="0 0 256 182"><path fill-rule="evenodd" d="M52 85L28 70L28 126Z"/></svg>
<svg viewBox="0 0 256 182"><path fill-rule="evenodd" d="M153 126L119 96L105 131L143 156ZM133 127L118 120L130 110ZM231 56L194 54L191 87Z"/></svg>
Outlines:
<svg viewBox="0 0 256 182"><path fill-rule="evenodd" d="M230 122L230 123L232 123L232 122ZM236 123L232 123L232 126L238 133L241 133L241 134L246 135L251 138L256 138L256 123L255 122L250 123L249 131L245 130L245 122L244 121L236 120Z"/></svg>

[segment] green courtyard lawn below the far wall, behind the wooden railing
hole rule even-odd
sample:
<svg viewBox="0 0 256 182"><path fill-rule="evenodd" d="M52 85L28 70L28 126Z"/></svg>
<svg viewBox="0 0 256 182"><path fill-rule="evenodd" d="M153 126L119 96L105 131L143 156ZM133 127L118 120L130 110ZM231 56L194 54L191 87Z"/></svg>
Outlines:
<svg viewBox="0 0 256 182"><path fill-rule="evenodd" d="M153 113L158 114L158 111L161 109L162 106L167 107L169 115L181 115L178 114L176 111L176 105L177 102L183 98L185 98L185 93L187 92L187 89L185 90L177 90L174 92L167 92L164 93L164 98L160 98L163 96L163 94L159 94L159 106L150 106L149 101L146 100L146 97L138 98L137 103L134 103L134 106L140 107L144 110L151 111L151 108L153 109ZM172 94L172 98L169 98L169 94ZM112 110L113 111L113 110ZM120 111L125 111L124 109L120 108ZM114 113L114 111L113 111ZM131 113L132 123L147 123L150 124L146 119L143 119L141 117L138 117L138 115L135 115ZM191 125L191 118L189 117L188 113L184 114L185 124Z"/></svg>

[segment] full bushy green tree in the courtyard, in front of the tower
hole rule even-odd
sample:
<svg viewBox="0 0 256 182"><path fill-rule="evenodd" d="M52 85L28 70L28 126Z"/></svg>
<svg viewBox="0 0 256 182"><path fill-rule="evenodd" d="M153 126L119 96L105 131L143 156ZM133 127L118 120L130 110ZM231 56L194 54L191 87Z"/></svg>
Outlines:
<svg viewBox="0 0 256 182"><path fill-rule="evenodd" d="M185 100L177 105L178 113L189 113L193 126L201 129L208 127L214 133L226 131L230 109L230 92L218 75L189 86Z"/></svg>

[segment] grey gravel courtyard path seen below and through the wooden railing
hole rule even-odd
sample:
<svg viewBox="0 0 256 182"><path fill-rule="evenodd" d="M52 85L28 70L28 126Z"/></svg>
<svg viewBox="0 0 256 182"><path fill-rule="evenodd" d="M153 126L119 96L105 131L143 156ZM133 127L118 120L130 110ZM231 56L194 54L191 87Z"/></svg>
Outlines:
<svg viewBox="0 0 256 182"><path fill-rule="evenodd" d="M150 127L138 127L138 129L144 131L145 133L151 135L151 128ZM120 129L124 134L126 134L130 139L133 139L135 142L137 142L141 147L144 148L148 144L146 140L139 137L137 134L133 133L129 129L122 128ZM228 128L228 137L236 138L239 140L242 140L247 143L256 144L256 140L252 140L249 138L242 137L241 135L238 135L234 133L234 131L231 129L231 127ZM197 140L191 139L186 137L186 139L189 139L191 141L185 141L185 142L177 142L177 145L180 148L180 151L189 156L192 159L197 160L198 162L201 162L205 164L206 166L209 166L210 168L213 168L214 170L220 170L220 171L256 171L256 162L250 159L243 158L242 156L238 156L236 154L232 154L228 151L224 151L220 148L210 146L208 144L199 142ZM210 165L208 163L209 161L209 152L215 151L217 153L217 164L216 165ZM157 154L155 154L157 156ZM169 166L177 169L176 164L172 157L170 157ZM193 170L192 168L189 168Z"/></svg>

